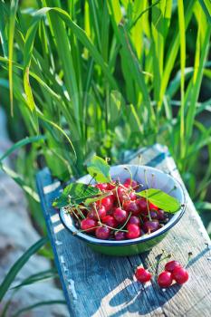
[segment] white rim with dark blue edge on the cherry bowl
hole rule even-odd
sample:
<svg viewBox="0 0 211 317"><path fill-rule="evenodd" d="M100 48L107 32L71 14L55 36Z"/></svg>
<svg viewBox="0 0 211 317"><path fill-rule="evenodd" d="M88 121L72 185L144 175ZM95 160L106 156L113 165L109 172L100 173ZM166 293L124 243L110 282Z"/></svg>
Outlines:
<svg viewBox="0 0 211 317"><path fill-rule="evenodd" d="M151 168L151 167L147 167L147 168ZM157 169L159 172L161 172L163 174L167 174L168 177L173 178L171 175L169 175L168 173L165 173L164 171L162 171L158 168L152 168L152 169ZM169 225L166 224L162 228L158 229L157 231L155 231L149 235L141 235L141 236L139 236L139 238L136 238L136 239L121 240L121 241L101 240L101 239L95 238L91 235L82 234L80 232L77 234L78 229L72 225L72 227L74 228L74 231L73 231L70 228L70 226L67 225L66 221L64 220L64 215L67 215L67 213L63 210L63 208L61 208L59 211L60 220L62 222L62 225L70 233L72 233L72 235L76 236L77 238L81 239L82 241L85 241L88 244L101 245L101 246L115 246L116 247L116 246L124 246L124 245L137 245L140 243L147 242L149 240L152 240L152 239L158 237L159 235L163 235L163 234L167 233L169 229L171 229L173 226L175 226L177 224L177 222L181 219L181 217L184 215L184 213L186 211L187 201L186 201L185 189L184 189L183 185L176 178L173 178L173 179L177 183L178 187L180 187L180 189L182 190L183 197L184 197L184 202L182 203L183 206L177 211L177 213L175 214L175 216L177 216L177 217L175 217L174 221L172 221L171 224L169 224ZM68 216L72 219L72 217L70 215L68 215Z"/></svg>

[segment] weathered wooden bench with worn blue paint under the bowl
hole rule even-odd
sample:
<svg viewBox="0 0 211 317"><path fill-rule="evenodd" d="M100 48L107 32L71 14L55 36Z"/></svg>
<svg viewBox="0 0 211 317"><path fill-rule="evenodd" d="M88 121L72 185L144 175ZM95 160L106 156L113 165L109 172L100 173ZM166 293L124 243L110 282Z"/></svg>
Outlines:
<svg viewBox="0 0 211 317"><path fill-rule="evenodd" d="M158 144L139 149L132 163L141 163L168 171L179 179L179 173L168 149ZM197 211L187 194L187 211L168 236L149 253L130 257L109 257L94 253L63 226L52 202L61 190L48 168L37 175L37 186L43 206L48 234L53 246L55 264L70 311L76 317L90 316L211 316L211 242ZM189 281L182 287L172 285L166 291L155 281L143 286L133 279L137 265L156 264L162 249L173 253L187 265ZM163 264L154 271L163 269Z"/></svg>

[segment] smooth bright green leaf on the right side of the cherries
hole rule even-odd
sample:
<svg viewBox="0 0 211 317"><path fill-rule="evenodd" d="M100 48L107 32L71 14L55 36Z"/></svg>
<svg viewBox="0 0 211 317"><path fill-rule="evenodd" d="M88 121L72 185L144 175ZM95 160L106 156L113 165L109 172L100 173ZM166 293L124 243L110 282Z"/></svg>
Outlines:
<svg viewBox="0 0 211 317"><path fill-rule="evenodd" d="M137 193L140 197L148 198L149 202L168 213L176 213L180 204L175 197L156 188L149 188Z"/></svg>

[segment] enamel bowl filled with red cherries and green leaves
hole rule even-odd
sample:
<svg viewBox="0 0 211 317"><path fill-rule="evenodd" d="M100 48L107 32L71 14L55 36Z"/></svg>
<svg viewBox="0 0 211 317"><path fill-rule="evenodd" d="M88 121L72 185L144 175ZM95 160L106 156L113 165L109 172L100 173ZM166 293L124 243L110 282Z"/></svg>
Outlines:
<svg viewBox="0 0 211 317"><path fill-rule="evenodd" d="M157 245L186 208L184 189L169 174L147 166L94 157L89 175L69 184L53 202L62 224L106 255L137 255Z"/></svg>

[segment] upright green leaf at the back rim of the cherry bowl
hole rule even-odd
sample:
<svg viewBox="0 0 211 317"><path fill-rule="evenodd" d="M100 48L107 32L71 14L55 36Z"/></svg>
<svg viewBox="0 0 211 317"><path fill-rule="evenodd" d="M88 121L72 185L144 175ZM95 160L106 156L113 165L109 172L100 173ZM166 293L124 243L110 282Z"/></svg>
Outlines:
<svg viewBox="0 0 211 317"><path fill-rule="evenodd" d="M93 157L87 165L87 170L97 182L110 182L110 166L104 159L98 156Z"/></svg>

